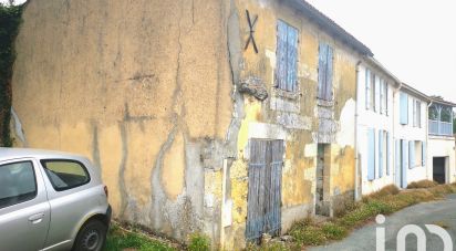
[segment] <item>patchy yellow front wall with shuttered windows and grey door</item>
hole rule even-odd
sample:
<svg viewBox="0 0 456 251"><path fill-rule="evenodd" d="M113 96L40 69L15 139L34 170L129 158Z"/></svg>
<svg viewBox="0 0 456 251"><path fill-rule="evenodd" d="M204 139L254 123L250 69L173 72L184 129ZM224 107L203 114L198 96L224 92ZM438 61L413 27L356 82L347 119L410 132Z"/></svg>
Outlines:
<svg viewBox="0 0 456 251"><path fill-rule="evenodd" d="M234 0L235 1L235 0ZM289 8L287 1L236 0L237 10L231 18L239 20L240 46L248 40L249 25L246 10L258 15L252 45L242 52L239 82L259 77L269 97L263 102L243 94L245 117L238 134L238 155L230 167L230 195L222 208L232 212L232 221L224 228L225 248L232 250L245 243L248 210L249 139L284 139L282 176L282 233L296 220L314 211L315 166L318 143L330 144L330 199L353 199L354 190L354 112L355 65L357 53L335 41L313 25L300 12ZM299 30L298 81L299 93L287 98L276 87L277 21L281 19ZM319 41L331 44L334 52L334 102L319 108L317 101ZM324 109L321 112L321 109ZM319 123L327 119L330 132L319 133ZM231 207L232 202L232 207ZM335 207L334 207L335 208ZM225 215L225 213L222 213ZM235 244L235 245L232 245Z"/></svg>

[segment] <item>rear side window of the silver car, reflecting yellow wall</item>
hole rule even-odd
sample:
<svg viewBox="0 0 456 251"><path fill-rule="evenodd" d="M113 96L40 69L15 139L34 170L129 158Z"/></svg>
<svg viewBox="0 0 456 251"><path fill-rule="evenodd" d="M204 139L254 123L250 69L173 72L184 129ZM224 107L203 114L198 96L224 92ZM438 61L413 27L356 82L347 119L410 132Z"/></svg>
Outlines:
<svg viewBox="0 0 456 251"><path fill-rule="evenodd" d="M48 178L56 191L85 185L90 181L87 169L75 160L41 160Z"/></svg>

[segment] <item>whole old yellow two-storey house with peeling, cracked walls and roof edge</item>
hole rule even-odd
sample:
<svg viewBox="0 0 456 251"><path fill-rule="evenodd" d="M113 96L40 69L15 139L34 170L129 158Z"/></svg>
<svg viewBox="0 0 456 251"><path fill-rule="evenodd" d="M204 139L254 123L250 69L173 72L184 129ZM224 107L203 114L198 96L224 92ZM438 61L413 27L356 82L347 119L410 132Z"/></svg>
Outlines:
<svg viewBox="0 0 456 251"><path fill-rule="evenodd" d="M372 52L301 0L31 0L15 145L100 166L116 218L227 250L331 216L355 187Z"/></svg>

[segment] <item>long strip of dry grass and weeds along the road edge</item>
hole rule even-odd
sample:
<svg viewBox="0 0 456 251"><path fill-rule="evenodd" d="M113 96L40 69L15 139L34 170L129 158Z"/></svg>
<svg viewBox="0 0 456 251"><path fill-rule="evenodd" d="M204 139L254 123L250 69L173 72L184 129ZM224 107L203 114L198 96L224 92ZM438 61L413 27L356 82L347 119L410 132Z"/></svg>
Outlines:
<svg viewBox="0 0 456 251"><path fill-rule="evenodd" d="M403 208L442 199L447 194L456 194L456 184L436 185L433 181L412 182L401 191L394 185L363 197L359 202L348 203L345 210L328 222L315 223L311 218L296 222L290 231L299 245L321 245L342 240L352 230L374 220L377 215L391 215ZM436 223L437 224L437 223Z"/></svg>

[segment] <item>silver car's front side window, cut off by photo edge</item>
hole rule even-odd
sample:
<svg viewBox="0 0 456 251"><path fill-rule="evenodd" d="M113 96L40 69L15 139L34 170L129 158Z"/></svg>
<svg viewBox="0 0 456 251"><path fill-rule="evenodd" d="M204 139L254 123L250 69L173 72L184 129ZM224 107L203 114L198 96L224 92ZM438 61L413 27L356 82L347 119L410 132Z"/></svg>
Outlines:
<svg viewBox="0 0 456 251"><path fill-rule="evenodd" d="M37 178L31 161L0 166L0 208L37 197Z"/></svg>

